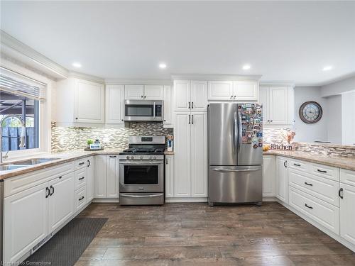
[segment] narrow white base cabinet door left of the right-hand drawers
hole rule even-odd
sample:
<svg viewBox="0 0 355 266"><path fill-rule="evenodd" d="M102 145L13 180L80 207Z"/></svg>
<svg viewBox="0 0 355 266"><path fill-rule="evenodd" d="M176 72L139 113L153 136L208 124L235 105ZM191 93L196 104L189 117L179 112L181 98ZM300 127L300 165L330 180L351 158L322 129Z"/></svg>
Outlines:
<svg viewBox="0 0 355 266"><path fill-rule="evenodd" d="M288 203L288 161L283 157L275 158L276 197Z"/></svg>

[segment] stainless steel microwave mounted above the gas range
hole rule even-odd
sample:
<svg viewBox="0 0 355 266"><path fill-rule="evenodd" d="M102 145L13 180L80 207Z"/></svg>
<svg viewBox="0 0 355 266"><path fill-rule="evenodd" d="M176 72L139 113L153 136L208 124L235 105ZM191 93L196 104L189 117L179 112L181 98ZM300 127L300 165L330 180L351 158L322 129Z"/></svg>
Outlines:
<svg viewBox="0 0 355 266"><path fill-rule="evenodd" d="M124 121L163 121L163 101L124 101Z"/></svg>

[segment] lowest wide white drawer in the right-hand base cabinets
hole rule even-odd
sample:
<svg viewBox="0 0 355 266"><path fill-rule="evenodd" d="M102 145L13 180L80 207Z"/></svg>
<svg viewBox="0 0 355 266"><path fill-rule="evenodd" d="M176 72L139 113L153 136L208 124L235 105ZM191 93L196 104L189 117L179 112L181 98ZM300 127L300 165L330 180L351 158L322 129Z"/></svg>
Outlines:
<svg viewBox="0 0 355 266"><path fill-rule="evenodd" d="M339 235L339 208L290 187L290 206Z"/></svg>

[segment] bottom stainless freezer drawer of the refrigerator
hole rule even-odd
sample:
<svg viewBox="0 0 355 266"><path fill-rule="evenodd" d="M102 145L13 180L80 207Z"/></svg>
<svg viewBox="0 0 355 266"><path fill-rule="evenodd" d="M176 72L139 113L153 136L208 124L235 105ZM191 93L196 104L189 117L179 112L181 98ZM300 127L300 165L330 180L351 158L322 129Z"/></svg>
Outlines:
<svg viewBox="0 0 355 266"><path fill-rule="evenodd" d="M209 166L209 203L249 203L263 199L262 166Z"/></svg>

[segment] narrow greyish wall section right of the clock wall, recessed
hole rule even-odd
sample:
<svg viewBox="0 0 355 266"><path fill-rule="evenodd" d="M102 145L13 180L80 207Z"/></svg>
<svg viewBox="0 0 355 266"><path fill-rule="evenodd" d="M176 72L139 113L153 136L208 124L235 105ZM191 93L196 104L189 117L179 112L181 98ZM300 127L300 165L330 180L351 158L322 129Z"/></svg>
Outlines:
<svg viewBox="0 0 355 266"><path fill-rule="evenodd" d="M328 141L342 144L342 95L327 97Z"/></svg>

